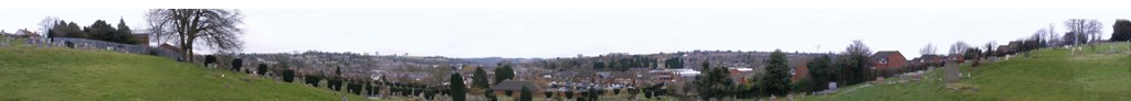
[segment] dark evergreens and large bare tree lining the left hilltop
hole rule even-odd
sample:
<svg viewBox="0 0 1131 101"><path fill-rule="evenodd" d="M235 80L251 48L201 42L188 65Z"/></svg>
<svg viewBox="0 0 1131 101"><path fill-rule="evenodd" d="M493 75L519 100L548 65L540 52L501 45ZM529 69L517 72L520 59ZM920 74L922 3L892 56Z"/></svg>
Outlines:
<svg viewBox="0 0 1131 101"><path fill-rule="evenodd" d="M234 9L153 9L146 13L146 21L155 42L174 42L187 58L192 58L193 47L208 47L222 53L238 52L243 47L243 15ZM104 20L95 20L81 27L74 21L48 17L40 22L41 30L49 39L55 37L87 38L104 42L139 44L145 43L133 36L133 30L124 19L112 27ZM200 43L200 44L198 44ZM189 62L193 59L188 59Z"/></svg>

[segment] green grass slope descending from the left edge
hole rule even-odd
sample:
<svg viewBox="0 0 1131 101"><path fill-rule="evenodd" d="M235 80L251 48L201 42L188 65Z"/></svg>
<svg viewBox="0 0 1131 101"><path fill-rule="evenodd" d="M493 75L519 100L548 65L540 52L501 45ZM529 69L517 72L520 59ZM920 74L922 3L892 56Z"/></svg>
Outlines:
<svg viewBox="0 0 1131 101"><path fill-rule="evenodd" d="M334 101L340 94L163 57L17 44L0 47L0 100Z"/></svg>

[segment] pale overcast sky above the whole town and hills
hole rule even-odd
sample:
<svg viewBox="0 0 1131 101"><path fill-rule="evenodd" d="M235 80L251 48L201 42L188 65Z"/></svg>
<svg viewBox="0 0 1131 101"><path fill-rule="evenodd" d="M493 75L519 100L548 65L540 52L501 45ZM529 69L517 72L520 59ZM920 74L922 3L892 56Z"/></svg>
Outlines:
<svg viewBox="0 0 1131 101"><path fill-rule="evenodd" d="M124 19L145 28L145 9L6 9L0 29L38 29L48 16L89 26ZM449 57L571 57L701 50L840 52L854 39L872 50L920 56L927 43L1031 36L1070 18L1098 19L1103 35L1131 10L1055 9L243 9L245 53L305 50Z"/></svg>

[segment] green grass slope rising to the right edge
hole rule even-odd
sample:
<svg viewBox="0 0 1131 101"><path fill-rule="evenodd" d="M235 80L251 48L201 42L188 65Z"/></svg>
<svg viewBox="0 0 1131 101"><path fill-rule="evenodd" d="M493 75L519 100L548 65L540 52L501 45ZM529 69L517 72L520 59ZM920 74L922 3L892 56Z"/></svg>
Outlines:
<svg viewBox="0 0 1131 101"><path fill-rule="evenodd" d="M1131 55L1129 44L1103 44L1096 49L1083 47L1082 54L1071 49L1043 48L1029 57L1016 55L1009 61L985 63L960 71L973 73L959 85L970 89L947 89L942 81L920 81L899 84L852 85L829 95L805 98L809 101L1126 101L1131 100ZM1115 53L1111 53L1111 52ZM942 79L942 71L931 71L929 79ZM900 79L888 79L897 81ZM860 88L848 91L852 88ZM977 89L977 90L974 90Z"/></svg>

